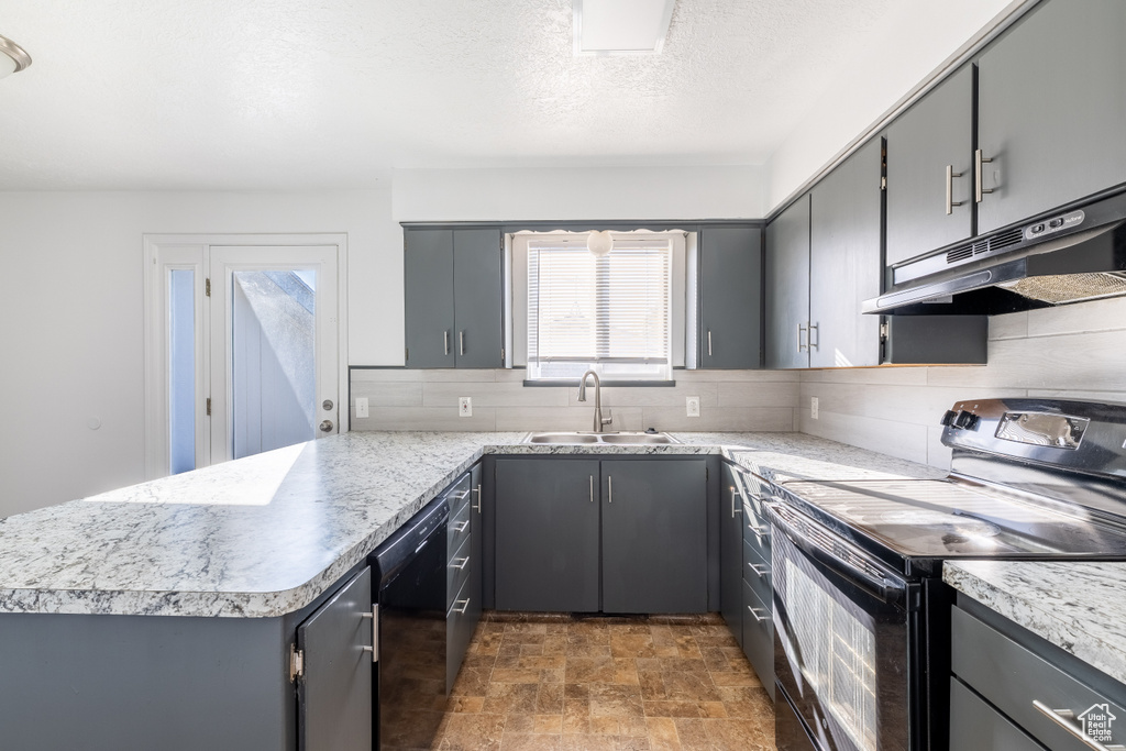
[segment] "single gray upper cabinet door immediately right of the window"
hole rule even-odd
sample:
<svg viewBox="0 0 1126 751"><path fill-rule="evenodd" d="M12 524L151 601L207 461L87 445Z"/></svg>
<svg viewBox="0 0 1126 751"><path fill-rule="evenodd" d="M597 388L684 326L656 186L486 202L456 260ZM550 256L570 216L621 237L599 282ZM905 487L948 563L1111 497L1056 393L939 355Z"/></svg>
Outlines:
<svg viewBox="0 0 1126 751"><path fill-rule="evenodd" d="M762 366L762 231L700 230L700 367Z"/></svg>

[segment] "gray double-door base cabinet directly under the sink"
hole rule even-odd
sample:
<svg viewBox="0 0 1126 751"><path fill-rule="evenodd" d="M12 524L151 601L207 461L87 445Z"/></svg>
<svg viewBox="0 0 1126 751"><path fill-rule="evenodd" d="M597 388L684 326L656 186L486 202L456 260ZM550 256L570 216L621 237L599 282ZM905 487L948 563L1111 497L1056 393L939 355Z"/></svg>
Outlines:
<svg viewBox="0 0 1126 751"><path fill-rule="evenodd" d="M705 613L704 459L498 459L499 610Z"/></svg>

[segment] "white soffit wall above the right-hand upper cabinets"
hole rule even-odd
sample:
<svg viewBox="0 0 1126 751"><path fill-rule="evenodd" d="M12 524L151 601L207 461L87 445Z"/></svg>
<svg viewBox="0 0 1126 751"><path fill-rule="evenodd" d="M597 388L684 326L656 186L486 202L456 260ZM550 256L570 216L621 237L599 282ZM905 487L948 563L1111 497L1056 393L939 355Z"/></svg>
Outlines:
<svg viewBox="0 0 1126 751"><path fill-rule="evenodd" d="M841 61L833 81L770 157L765 166L766 208L778 207L956 50L1024 5L1026 0L895 3L879 43Z"/></svg>

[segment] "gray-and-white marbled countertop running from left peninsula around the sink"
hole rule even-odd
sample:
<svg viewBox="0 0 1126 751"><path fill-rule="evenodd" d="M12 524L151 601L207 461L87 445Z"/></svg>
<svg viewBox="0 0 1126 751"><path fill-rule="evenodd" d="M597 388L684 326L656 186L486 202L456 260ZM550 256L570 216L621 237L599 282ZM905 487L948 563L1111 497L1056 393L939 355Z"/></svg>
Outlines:
<svg viewBox="0 0 1126 751"><path fill-rule="evenodd" d="M484 454L723 453L767 477L941 476L801 433L670 446L350 432L0 519L0 613L276 617L301 609Z"/></svg>

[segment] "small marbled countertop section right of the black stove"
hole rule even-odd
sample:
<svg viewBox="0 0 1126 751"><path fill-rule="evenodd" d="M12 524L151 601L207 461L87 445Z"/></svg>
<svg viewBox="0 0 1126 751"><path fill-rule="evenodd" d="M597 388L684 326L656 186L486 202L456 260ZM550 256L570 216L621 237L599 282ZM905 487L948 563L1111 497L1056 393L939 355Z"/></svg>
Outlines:
<svg viewBox="0 0 1126 751"><path fill-rule="evenodd" d="M942 580L1126 683L1126 563L951 561Z"/></svg>

